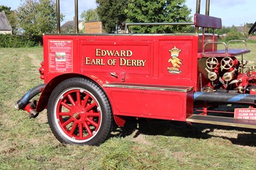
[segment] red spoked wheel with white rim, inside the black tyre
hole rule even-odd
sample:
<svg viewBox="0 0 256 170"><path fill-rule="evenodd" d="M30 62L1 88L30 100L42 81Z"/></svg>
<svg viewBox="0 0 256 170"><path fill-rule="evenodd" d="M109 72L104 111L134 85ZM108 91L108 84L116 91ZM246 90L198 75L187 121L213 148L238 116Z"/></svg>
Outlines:
<svg viewBox="0 0 256 170"><path fill-rule="evenodd" d="M66 89L54 105L56 125L68 140L75 143L90 141L101 125L99 102L83 88Z"/></svg>

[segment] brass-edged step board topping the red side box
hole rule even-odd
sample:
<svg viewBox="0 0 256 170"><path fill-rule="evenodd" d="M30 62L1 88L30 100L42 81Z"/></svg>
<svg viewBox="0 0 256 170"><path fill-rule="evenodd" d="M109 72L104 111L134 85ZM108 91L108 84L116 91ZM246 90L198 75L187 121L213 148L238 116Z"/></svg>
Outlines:
<svg viewBox="0 0 256 170"><path fill-rule="evenodd" d="M109 84L103 84L103 86L105 88L127 88L127 89L159 90L159 91L178 91L178 92L188 92L193 90L193 87L163 86L163 85L152 85L152 84L109 83Z"/></svg>

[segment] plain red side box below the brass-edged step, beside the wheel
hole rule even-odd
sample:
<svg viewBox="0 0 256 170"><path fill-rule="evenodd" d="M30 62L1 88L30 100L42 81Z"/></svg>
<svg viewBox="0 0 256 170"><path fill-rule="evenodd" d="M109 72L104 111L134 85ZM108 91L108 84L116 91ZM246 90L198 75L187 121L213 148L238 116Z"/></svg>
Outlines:
<svg viewBox="0 0 256 170"><path fill-rule="evenodd" d="M106 88L106 91L115 115L185 121L193 112L193 91L125 88Z"/></svg>

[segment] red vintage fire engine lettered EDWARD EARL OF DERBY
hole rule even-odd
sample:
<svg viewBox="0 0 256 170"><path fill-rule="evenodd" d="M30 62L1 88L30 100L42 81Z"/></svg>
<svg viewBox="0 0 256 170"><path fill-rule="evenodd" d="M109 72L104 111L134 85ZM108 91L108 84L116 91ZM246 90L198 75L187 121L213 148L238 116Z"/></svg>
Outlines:
<svg viewBox="0 0 256 170"><path fill-rule="evenodd" d="M221 29L221 19L209 16L209 0L206 9L200 14L197 0L194 22L164 23L194 25L196 33L189 34L61 35L58 18L58 34L44 35L39 71L45 84L15 108L31 117L47 109L53 134L68 144L99 145L129 116L256 128L255 63L244 58L250 50L244 41L242 49L218 42L214 29ZM222 112L212 108L223 104L246 107L228 117L209 115Z"/></svg>

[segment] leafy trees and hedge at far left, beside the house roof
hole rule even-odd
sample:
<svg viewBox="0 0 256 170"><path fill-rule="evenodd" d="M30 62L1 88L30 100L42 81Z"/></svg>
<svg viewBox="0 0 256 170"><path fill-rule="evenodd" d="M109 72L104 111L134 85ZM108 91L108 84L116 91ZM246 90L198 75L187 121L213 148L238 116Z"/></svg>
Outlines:
<svg viewBox="0 0 256 170"><path fill-rule="evenodd" d="M56 4L53 0L20 1L17 10L0 6L12 26L13 35L1 35L0 47L34 46L42 44L44 33L56 30ZM61 15L61 20L63 20ZM23 43L23 45L22 45Z"/></svg>

